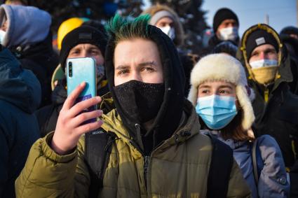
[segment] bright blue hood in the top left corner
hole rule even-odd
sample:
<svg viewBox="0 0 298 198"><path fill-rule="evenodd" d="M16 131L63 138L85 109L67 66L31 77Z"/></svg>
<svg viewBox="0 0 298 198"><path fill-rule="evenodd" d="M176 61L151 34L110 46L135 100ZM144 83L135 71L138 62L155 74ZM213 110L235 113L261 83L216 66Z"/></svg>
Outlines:
<svg viewBox="0 0 298 198"><path fill-rule="evenodd" d="M8 21L3 45L27 45L43 41L50 31L51 17L32 6L0 6L0 24Z"/></svg>

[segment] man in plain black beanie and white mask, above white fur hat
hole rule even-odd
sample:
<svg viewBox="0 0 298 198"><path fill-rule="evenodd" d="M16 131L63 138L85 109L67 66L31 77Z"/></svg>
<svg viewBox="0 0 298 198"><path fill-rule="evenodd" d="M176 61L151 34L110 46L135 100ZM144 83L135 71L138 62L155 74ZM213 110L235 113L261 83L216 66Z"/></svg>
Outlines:
<svg viewBox="0 0 298 198"><path fill-rule="evenodd" d="M239 42L238 27L239 20L236 13L229 8L217 10L213 17L214 36L209 40L210 48L214 48L222 41L231 41L237 45Z"/></svg>

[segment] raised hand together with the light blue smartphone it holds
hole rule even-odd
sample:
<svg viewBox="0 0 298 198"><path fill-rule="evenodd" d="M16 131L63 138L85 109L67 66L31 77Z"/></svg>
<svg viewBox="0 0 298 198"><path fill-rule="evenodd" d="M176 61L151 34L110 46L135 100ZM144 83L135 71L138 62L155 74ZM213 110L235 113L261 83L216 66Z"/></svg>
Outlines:
<svg viewBox="0 0 298 198"><path fill-rule="evenodd" d="M58 154L69 153L76 147L81 134L102 125L101 120L96 120L102 115L102 111L96 111L101 99L95 97L95 65L95 59L90 57L67 59L68 97L60 111L51 143L51 147Z"/></svg>

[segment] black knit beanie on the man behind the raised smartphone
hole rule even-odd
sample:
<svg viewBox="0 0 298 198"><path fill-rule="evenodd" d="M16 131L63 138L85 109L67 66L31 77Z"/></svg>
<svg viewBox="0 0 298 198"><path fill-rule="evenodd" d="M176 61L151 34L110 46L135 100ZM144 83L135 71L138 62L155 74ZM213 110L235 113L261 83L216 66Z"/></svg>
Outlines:
<svg viewBox="0 0 298 198"><path fill-rule="evenodd" d="M102 55L104 55L104 51L107 46L107 36L94 27L90 27L87 25L69 31L69 33L62 40L62 46L60 50L59 62L64 71L65 62L68 57L69 51L72 50L74 46L81 43L90 43L97 46L100 49L100 52L102 52Z"/></svg>

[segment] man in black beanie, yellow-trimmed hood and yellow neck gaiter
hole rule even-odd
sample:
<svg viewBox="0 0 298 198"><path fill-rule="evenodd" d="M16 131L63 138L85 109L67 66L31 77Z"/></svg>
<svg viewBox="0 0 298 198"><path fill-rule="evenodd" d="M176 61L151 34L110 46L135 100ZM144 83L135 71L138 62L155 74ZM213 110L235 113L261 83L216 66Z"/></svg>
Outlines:
<svg viewBox="0 0 298 198"><path fill-rule="evenodd" d="M244 32L237 58L245 65L248 83L256 95L252 102L256 118L252 130L255 136L269 134L276 139L290 172L291 197L296 197L298 98L288 85L292 81L290 56L272 27L255 24Z"/></svg>

